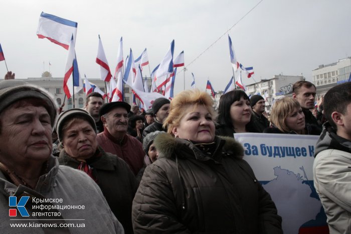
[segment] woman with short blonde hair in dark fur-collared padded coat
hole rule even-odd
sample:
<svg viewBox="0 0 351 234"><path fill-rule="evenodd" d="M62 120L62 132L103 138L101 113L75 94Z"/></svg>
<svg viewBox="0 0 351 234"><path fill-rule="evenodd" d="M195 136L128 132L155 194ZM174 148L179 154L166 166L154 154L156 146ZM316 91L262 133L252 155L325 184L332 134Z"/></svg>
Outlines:
<svg viewBox="0 0 351 234"><path fill-rule="evenodd" d="M206 92L175 96L132 207L134 233L282 233L270 195L233 138L215 136Z"/></svg>

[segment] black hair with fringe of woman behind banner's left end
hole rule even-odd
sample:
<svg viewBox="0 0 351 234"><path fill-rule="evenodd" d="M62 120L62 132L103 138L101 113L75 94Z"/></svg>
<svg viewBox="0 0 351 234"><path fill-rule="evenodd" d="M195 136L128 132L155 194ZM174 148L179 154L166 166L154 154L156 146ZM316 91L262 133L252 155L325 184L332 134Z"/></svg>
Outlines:
<svg viewBox="0 0 351 234"><path fill-rule="evenodd" d="M247 94L242 90L233 90L221 96L218 107L219 124L233 127L232 118L230 116L230 106L233 104L233 102L239 101L241 98L250 101Z"/></svg>

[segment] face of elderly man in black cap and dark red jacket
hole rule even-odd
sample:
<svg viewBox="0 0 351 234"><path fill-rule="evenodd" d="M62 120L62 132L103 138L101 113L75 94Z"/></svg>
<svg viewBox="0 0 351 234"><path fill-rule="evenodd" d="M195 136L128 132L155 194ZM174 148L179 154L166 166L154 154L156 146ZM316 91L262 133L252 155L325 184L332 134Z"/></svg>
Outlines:
<svg viewBox="0 0 351 234"><path fill-rule="evenodd" d="M115 133L126 133L128 129L128 112L123 107L116 107L102 118L104 126L111 135Z"/></svg>

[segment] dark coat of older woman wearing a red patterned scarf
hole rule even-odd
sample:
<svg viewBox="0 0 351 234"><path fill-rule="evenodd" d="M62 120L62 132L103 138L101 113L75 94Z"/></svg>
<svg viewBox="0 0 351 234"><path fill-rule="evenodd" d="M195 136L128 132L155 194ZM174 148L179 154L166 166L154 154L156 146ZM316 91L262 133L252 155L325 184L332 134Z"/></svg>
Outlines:
<svg viewBox="0 0 351 234"><path fill-rule="evenodd" d="M125 233L133 233L131 205L138 187L135 176L122 159L104 152L101 147L99 151L100 157L87 159L87 164L93 168L92 175ZM80 165L80 161L69 156L64 149L60 153L59 163L75 169Z"/></svg>

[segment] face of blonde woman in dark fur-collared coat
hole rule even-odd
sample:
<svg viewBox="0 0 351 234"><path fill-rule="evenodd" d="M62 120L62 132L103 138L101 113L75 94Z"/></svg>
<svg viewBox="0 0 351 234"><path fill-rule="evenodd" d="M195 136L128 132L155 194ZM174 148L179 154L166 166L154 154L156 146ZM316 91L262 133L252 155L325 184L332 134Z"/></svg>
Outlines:
<svg viewBox="0 0 351 234"><path fill-rule="evenodd" d="M204 106L189 106L186 114L179 122L178 127L173 127L172 133L182 139L198 143L210 143L215 139L215 124L210 112Z"/></svg>

